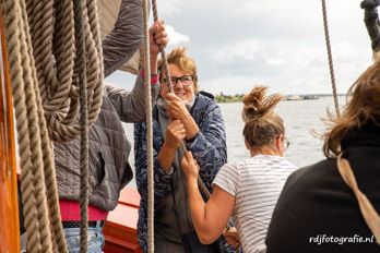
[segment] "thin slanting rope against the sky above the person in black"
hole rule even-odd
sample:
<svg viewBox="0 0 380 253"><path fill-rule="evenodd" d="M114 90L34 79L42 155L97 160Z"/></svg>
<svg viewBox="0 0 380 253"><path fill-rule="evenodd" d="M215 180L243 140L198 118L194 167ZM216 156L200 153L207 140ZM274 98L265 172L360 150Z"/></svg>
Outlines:
<svg viewBox="0 0 380 253"><path fill-rule="evenodd" d="M334 65L333 65L332 53L331 53L328 13L326 13L326 8L325 8L325 0L321 0L321 1L322 1L322 12L323 12L324 38L325 38L325 46L328 48L328 57L329 57L329 69L330 69L331 85L332 85L332 89L333 89L336 116L340 117L341 116L341 111L340 111L340 106L339 106L339 101L337 101L336 84L335 84L335 75L334 75Z"/></svg>

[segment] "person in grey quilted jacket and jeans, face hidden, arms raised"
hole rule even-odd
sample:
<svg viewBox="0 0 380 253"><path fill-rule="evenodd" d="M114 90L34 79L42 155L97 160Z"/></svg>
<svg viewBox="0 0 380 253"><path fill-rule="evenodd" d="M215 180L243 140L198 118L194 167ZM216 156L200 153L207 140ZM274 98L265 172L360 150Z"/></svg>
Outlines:
<svg viewBox="0 0 380 253"><path fill-rule="evenodd" d="M142 3L123 0L111 33L103 41L105 75L128 61L142 41ZM164 22L150 28L152 101L156 100L159 84L157 55L167 45ZM132 92L105 86L103 105L88 133L88 252L102 252L102 226L108 212L118 203L120 190L132 179L128 162L130 143L121 121L139 122L145 119L143 71L136 77ZM80 250L80 137L68 143L55 143L55 164L63 230L70 252Z"/></svg>

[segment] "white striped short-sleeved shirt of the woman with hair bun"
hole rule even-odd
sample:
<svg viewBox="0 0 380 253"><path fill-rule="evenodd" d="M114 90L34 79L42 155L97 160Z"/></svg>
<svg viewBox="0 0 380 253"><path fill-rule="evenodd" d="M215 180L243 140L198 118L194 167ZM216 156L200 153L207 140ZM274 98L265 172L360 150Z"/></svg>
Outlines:
<svg viewBox="0 0 380 253"><path fill-rule="evenodd" d="M265 252L273 208L295 169L281 156L260 154L226 164L217 173L213 183L235 196L233 220L245 252Z"/></svg>

